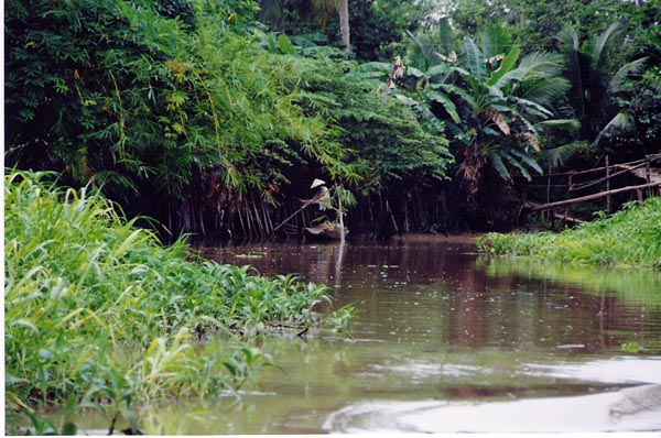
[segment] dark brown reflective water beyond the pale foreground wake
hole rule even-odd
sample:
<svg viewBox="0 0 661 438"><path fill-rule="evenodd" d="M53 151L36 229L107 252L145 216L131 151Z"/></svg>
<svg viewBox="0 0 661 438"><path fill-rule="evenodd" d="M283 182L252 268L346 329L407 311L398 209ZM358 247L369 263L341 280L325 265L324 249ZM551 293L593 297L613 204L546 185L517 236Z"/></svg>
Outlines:
<svg viewBox="0 0 661 438"><path fill-rule="evenodd" d="M273 245L204 253L266 274L296 272L335 286L338 306L353 303L361 311L356 336L370 341L408 348L546 348L566 354L636 341L661 351L660 273L485 261L474 251L470 244L426 238L388 247Z"/></svg>

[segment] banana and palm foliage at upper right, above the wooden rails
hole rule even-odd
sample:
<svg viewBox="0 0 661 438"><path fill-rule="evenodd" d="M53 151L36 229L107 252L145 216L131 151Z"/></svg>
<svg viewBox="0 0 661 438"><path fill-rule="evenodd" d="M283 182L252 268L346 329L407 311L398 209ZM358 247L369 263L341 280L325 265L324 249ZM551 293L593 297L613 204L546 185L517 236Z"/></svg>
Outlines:
<svg viewBox="0 0 661 438"><path fill-rule="evenodd" d="M476 201L460 212L469 227L511 227L521 208L514 193L544 168L659 151L658 2L437 4L440 20L409 35L414 91L410 79L401 86L446 125L457 163L452 196Z"/></svg>

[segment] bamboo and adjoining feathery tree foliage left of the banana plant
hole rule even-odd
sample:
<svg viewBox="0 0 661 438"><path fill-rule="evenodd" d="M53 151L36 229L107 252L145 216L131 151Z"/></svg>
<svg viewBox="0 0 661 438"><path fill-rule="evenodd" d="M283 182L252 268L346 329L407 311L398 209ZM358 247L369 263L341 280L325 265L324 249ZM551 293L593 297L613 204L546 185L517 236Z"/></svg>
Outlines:
<svg viewBox="0 0 661 438"><path fill-rule="evenodd" d="M8 164L102 186L173 231L231 231L232 213L286 201L275 195L300 174L360 187L444 175L437 131L337 52L248 26L256 8L9 2ZM381 150L408 163L361 172Z"/></svg>

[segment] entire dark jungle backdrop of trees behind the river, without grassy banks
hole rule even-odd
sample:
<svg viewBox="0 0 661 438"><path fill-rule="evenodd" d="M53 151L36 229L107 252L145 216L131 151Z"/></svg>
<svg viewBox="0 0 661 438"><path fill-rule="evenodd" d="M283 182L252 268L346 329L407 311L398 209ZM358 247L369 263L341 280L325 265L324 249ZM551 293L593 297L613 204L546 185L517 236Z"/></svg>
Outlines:
<svg viewBox="0 0 661 438"><path fill-rule="evenodd" d="M172 239L271 236L314 177L357 232L509 229L531 178L659 152L658 2L587 3L355 1L347 55L340 2L8 1L6 161Z"/></svg>

